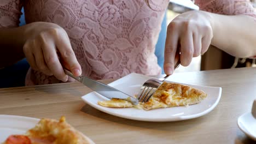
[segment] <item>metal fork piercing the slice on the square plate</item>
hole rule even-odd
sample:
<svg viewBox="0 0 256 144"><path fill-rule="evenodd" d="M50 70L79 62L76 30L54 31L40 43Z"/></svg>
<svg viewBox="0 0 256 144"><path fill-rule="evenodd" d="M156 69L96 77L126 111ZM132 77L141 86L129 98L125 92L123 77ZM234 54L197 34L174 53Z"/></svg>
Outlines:
<svg viewBox="0 0 256 144"><path fill-rule="evenodd" d="M174 66L174 69L178 68L180 63L181 62L178 61ZM147 102L155 93L156 89L158 89L158 87L162 85L162 82L164 82L168 76L170 75L166 75L164 78L160 79L149 79L146 82L144 82L137 97L138 101Z"/></svg>

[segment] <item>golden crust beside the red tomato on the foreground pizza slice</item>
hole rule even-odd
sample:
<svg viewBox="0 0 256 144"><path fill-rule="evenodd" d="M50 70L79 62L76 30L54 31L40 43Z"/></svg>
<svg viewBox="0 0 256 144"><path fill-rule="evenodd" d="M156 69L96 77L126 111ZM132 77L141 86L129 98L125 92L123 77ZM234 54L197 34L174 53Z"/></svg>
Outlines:
<svg viewBox="0 0 256 144"><path fill-rule="evenodd" d="M28 130L26 135L30 137L32 143L40 143L37 140L50 140L55 144L94 143L66 123L65 117L61 117L60 121L43 118L38 122L36 127Z"/></svg>

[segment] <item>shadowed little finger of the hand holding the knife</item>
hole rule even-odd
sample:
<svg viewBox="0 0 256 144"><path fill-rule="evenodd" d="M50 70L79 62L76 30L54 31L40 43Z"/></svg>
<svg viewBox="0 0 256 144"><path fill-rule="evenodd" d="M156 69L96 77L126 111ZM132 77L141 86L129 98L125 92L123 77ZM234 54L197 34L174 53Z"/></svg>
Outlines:
<svg viewBox="0 0 256 144"><path fill-rule="evenodd" d="M23 46L23 51L24 51L24 55L27 59L27 62L30 64L30 67L33 69L33 70L38 70L37 68L37 64L36 64L36 60L34 58L34 55L30 49L31 47L31 43L30 42L27 42L24 46Z"/></svg>

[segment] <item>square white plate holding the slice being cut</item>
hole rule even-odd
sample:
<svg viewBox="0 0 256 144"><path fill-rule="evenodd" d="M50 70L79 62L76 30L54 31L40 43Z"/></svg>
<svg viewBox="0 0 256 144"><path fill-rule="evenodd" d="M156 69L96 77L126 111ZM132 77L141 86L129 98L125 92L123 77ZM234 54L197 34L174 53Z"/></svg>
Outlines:
<svg viewBox="0 0 256 144"><path fill-rule="evenodd" d="M139 74L129 74L117 81L109 84L114 88L119 89L130 95L135 95L139 92L139 88L143 85L145 81L151 79L152 77L139 75ZM190 85L193 86L193 85ZM139 110L135 108L110 108L103 107L97 104L98 101L108 100L102 95L91 92L82 97L82 99L90 106L98 109L100 111L109 113L110 115L123 117L127 119L134 119L138 121L149 121L149 122L170 122L170 121L181 121L184 119L191 119L205 115L206 113L212 111L214 107L219 103L222 88L220 87L206 87L206 86L193 86L194 88L201 89L206 92L208 96L206 99L202 100L200 104L190 105L188 107L178 106L170 107L165 109L155 109L155 110Z"/></svg>

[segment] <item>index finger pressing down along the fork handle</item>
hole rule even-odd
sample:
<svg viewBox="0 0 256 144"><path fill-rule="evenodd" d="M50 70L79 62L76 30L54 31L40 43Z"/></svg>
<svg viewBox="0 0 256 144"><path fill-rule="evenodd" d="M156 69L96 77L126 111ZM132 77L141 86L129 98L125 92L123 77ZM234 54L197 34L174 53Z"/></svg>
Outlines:
<svg viewBox="0 0 256 144"><path fill-rule="evenodd" d="M170 23L167 29L166 41L165 41L165 61L164 71L166 75L173 74L175 57L178 44L178 34L174 32L174 27Z"/></svg>

